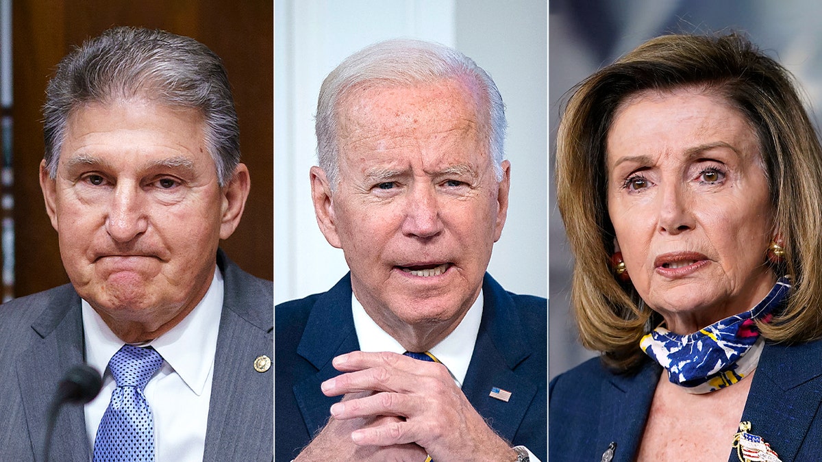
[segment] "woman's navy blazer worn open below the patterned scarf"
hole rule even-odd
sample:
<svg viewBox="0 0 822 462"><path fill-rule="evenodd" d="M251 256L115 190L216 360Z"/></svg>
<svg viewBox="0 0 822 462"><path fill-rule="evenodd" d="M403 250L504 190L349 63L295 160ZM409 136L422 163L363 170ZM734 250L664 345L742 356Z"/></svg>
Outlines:
<svg viewBox="0 0 822 462"><path fill-rule="evenodd" d="M555 377L549 390L551 461L601 460L611 442L613 462L635 460L662 367L646 359L617 375L598 358ZM822 340L765 344L741 421L783 462L822 460ZM705 409L705 418L722 409ZM728 435L728 441L732 435ZM738 462L728 446L728 461Z"/></svg>

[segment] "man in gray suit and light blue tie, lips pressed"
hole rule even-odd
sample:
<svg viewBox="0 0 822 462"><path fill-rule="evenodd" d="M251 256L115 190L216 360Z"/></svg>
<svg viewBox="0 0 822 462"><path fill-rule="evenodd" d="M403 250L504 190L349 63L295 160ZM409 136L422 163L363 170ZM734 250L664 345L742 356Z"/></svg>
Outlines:
<svg viewBox="0 0 822 462"><path fill-rule="evenodd" d="M0 459L271 460L272 284L218 249L248 169L220 58L119 27L48 84L40 186L71 284L0 307ZM76 364L103 372L50 416ZM49 422L51 421L51 422Z"/></svg>

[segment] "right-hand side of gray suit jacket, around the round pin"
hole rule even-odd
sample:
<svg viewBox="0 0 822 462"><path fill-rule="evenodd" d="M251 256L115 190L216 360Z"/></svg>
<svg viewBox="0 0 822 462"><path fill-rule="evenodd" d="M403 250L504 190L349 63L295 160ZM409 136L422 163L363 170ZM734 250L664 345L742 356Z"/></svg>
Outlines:
<svg viewBox="0 0 822 462"><path fill-rule="evenodd" d="M255 290L260 281L222 252L218 264L225 289L203 460L266 460L274 434L274 369L257 372L254 362L274 358L274 302L270 289Z"/></svg>

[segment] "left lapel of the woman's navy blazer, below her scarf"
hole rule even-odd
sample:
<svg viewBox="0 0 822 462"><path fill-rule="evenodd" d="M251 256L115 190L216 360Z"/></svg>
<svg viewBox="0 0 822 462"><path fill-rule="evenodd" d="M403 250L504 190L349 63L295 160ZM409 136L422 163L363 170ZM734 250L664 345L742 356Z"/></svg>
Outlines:
<svg viewBox="0 0 822 462"><path fill-rule="evenodd" d="M603 381L602 402L609 405L600 414L595 443L598 454L613 442L613 462L635 460L661 373L662 367L646 360L635 374L615 375Z"/></svg>

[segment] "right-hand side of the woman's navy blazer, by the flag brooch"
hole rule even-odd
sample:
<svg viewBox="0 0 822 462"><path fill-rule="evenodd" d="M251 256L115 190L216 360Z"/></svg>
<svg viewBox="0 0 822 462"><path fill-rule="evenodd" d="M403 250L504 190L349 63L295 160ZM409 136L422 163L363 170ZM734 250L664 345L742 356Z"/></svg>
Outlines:
<svg viewBox="0 0 822 462"><path fill-rule="evenodd" d="M822 340L807 344L765 344L750 384L742 422L768 442L783 462L822 451L809 429L822 403ZM815 452L809 450L815 447ZM732 451L728 460L737 460Z"/></svg>

